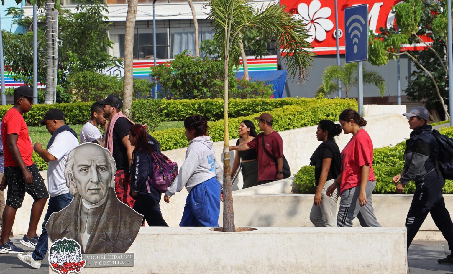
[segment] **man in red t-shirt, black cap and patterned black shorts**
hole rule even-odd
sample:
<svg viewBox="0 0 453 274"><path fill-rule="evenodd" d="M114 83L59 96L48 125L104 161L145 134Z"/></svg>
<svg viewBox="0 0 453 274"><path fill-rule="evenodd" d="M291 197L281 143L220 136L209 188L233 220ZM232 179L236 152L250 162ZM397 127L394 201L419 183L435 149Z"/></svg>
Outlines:
<svg viewBox="0 0 453 274"><path fill-rule="evenodd" d="M22 245L34 248L38 241L36 227L43 213L49 194L38 167L33 163L33 144L25 124L24 113L33 105L33 89L22 86L14 89L14 106L6 112L1 124L3 153L5 156L5 176L0 183L0 190L8 186L6 207L3 211L3 228L0 237L0 253L24 253L25 250L10 241L16 211L22 206L25 192L34 199L31 209L29 230L20 240Z"/></svg>

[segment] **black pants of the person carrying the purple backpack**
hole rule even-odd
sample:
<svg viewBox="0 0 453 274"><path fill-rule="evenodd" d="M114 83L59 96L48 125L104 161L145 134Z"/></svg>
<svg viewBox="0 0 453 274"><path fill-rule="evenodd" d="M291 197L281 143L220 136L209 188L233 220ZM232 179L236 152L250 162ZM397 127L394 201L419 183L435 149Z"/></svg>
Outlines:
<svg viewBox="0 0 453 274"><path fill-rule="evenodd" d="M142 194L135 199L132 209L143 215L148 226L168 226L160 212L160 198L154 194Z"/></svg>

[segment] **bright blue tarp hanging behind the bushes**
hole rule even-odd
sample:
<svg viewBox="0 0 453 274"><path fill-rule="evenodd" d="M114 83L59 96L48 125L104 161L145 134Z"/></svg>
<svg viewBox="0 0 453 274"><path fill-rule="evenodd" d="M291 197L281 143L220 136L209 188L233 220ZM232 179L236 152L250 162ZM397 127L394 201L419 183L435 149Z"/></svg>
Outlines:
<svg viewBox="0 0 453 274"><path fill-rule="evenodd" d="M235 77L240 79L244 72L236 72ZM274 98L284 97L284 86L286 84L286 70L249 71L252 81L265 81L272 84Z"/></svg>

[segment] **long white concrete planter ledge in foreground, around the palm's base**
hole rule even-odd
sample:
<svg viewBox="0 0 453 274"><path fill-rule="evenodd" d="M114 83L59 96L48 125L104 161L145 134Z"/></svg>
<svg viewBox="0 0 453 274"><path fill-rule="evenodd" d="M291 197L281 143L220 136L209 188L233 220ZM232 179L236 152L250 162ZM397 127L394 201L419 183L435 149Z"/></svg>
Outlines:
<svg viewBox="0 0 453 274"><path fill-rule="evenodd" d="M142 227L127 250L134 267L85 268L84 274L406 274L405 228ZM49 269L49 273L54 273Z"/></svg>

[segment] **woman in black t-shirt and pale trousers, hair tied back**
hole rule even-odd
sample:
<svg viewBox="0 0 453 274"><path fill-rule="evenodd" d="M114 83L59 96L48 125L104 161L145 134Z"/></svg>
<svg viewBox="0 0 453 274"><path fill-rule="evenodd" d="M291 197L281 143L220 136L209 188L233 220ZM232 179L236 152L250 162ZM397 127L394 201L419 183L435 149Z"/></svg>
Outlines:
<svg viewBox="0 0 453 274"><path fill-rule="evenodd" d="M331 120L320 120L316 138L322 141L310 158L314 166L314 178L317 185L314 202L310 212L310 221L314 226L337 226L337 201L340 187L328 197L326 191L341 173L341 154L335 143L335 136L340 135L341 125Z"/></svg>

